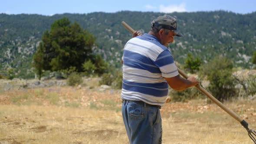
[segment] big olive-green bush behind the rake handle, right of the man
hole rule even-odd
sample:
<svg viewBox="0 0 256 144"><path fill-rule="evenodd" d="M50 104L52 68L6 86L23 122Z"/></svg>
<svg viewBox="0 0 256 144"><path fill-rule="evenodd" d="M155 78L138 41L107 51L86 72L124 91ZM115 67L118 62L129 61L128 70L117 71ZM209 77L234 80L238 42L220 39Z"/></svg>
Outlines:
<svg viewBox="0 0 256 144"><path fill-rule="evenodd" d="M220 101L236 95L236 81L232 75L232 68L233 63L223 56L217 56L200 67L200 77L207 76L207 80L210 81L210 92Z"/></svg>

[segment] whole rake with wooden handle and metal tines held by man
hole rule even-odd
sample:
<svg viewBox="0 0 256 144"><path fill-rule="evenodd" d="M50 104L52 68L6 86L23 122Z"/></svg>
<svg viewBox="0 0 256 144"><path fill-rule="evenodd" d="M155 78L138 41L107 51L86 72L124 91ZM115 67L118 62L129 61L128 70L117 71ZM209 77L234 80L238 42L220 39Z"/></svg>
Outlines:
<svg viewBox="0 0 256 144"><path fill-rule="evenodd" d="M132 29L125 21L122 21L121 24L128 29L131 33L134 33L135 30ZM181 69L177 68L178 72L180 75L182 75L185 79L188 78L187 74L185 74ZM199 84L195 86L199 91L203 92L204 95L206 95L208 98L210 98L211 101L213 101L216 105L218 105L220 108L222 108L226 113L228 113L230 116L232 116L236 121L238 121L240 124L243 125L243 127L246 129L248 132L249 137L253 140L254 144L256 144L256 132L253 129L248 128L248 123L241 118L239 115L237 115L235 112L230 110L229 108L226 107L226 105L223 105L220 101L218 101L216 98L213 97L209 92L207 92L203 87L201 87Z"/></svg>

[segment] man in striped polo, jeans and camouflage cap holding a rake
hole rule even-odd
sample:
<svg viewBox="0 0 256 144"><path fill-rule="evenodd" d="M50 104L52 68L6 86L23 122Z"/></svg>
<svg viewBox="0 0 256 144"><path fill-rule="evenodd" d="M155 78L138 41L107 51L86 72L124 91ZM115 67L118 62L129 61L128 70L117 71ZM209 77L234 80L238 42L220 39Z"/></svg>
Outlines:
<svg viewBox="0 0 256 144"><path fill-rule="evenodd" d="M198 84L194 77L180 77L171 52L177 22L172 16L153 20L148 33L133 34L122 57L122 115L130 144L161 144L162 125L159 109L164 105L168 85L182 91ZM136 36L136 37L135 37Z"/></svg>

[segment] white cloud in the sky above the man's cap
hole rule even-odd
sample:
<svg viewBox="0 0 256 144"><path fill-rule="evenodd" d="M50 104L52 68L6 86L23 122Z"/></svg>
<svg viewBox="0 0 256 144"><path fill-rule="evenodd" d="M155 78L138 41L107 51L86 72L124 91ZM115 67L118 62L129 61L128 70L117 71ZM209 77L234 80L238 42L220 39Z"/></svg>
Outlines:
<svg viewBox="0 0 256 144"><path fill-rule="evenodd" d="M180 5L170 5L165 7L164 5L160 5L161 13L173 13L173 12L186 12L186 3L181 3Z"/></svg>

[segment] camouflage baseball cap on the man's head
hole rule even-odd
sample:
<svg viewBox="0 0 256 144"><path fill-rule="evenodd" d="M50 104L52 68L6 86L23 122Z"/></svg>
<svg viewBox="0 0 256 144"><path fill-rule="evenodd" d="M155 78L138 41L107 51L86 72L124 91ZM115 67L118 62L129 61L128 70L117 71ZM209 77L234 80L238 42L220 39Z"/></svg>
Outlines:
<svg viewBox="0 0 256 144"><path fill-rule="evenodd" d="M158 16L156 19L152 21L151 27L170 29L174 31L175 36L183 36L181 33L177 32L177 20L172 16Z"/></svg>

